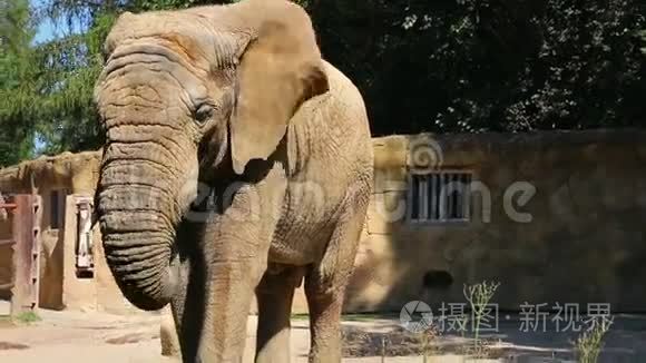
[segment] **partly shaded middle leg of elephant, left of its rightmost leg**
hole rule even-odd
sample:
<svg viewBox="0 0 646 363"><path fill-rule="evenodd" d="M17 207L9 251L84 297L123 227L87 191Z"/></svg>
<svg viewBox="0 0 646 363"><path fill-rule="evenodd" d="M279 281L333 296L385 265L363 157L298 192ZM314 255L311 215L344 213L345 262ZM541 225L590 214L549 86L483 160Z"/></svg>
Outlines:
<svg viewBox="0 0 646 363"><path fill-rule="evenodd" d="M256 287L258 302L256 363L290 362L292 301L302 276L300 267L285 267L280 273L266 272Z"/></svg>

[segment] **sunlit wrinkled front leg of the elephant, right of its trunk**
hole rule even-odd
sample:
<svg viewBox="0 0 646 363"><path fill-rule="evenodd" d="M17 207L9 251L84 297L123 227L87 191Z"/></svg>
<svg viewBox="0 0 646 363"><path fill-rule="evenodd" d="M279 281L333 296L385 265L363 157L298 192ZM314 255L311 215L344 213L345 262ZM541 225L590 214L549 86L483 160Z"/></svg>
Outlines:
<svg viewBox="0 0 646 363"><path fill-rule="evenodd" d="M199 363L242 362L252 298L267 269L282 207L282 173L274 168L261 182L237 187L231 205L207 228L207 324Z"/></svg>

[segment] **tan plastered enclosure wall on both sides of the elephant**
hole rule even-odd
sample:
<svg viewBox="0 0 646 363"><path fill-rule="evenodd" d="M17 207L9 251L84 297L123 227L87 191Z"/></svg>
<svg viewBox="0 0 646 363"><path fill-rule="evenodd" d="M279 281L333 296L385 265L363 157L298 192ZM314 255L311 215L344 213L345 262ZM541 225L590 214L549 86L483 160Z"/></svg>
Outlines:
<svg viewBox="0 0 646 363"><path fill-rule="evenodd" d="M493 302L506 310L609 303L613 311L646 311L646 133L415 135L373 144L375 190L346 312L399 312L412 300L462 303L463 284L484 279L501 283ZM92 195L99 157L65 154L0 170L0 190L43 195L46 306L133 311L106 266L97 229L95 277L75 276L71 198L65 233L48 228L47 194ZM469 222L420 225L401 217L410 207L411 169L424 160L431 169L472 173L480 192L471 196ZM519 205L518 193L506 197L527 185L535 188L527 203ZM515 220L520 213L531 220ZM306 311L300 288L294 312Z"/></svg>

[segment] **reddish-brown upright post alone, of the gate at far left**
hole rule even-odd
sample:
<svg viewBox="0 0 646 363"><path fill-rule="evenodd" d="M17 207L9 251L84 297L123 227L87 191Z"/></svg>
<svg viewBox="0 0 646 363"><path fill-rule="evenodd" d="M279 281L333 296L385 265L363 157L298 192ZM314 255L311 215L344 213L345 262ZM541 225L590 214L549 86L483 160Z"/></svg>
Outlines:
<svg viewBox="0 0 646 363"><path fill-rule="evenodd" d="M16 195L13 210L13 288L11 291L11 316L33 311L33 241L35 198L31 195ZM38 258L38 257L37 257ZM38 272L37 272L38 276Z"/></svg>

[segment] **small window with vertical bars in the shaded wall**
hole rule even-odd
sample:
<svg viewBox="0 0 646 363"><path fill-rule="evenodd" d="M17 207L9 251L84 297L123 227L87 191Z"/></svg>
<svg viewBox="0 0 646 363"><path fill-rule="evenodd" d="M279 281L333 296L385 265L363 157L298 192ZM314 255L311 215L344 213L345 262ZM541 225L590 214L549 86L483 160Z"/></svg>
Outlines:
<svg viewBox="0 0 646 363"><path fill-rule="evenodd" d="M412 223L470 220L468 171L412 174L409 184L408 219Z"/></svg>

